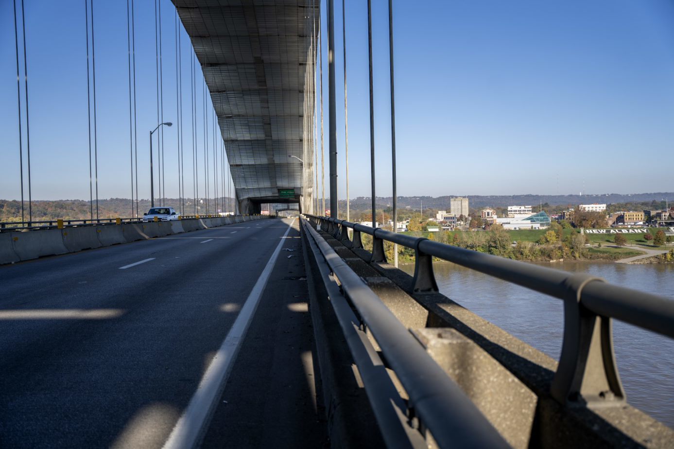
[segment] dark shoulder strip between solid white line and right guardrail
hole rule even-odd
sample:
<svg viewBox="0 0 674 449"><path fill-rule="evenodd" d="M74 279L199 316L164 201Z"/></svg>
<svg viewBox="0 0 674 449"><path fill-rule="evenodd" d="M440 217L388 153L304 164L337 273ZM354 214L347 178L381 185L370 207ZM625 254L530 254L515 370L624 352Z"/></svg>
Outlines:
<svg viewBox="0 0 674 449"><path fill-rule="evenodd" d="M288 233L218 407L206 448L319 448L314 339L297 220Z"/></svg>

